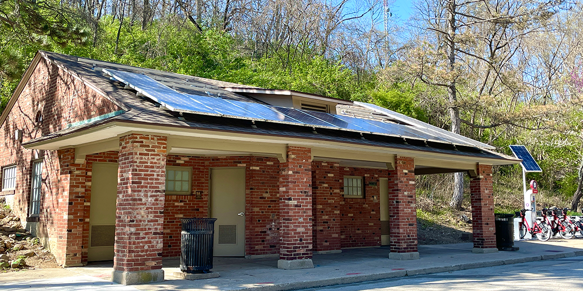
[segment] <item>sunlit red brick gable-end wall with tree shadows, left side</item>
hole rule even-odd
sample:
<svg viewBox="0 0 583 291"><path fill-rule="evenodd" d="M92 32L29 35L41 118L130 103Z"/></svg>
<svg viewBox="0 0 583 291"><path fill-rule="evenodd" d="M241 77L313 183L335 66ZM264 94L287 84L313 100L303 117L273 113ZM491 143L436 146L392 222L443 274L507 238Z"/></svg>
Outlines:
<svg viewBox="0 0 583 291"><path fill-rule="evenodd" d="M94 93L79 80L74 79L68 73L50 62L41 59L24 86L22 93L14 107L10 110L8 118L2 124L0 130L0 166L17 165L16 189L0 192L0 196L14 194L13 210L19 215L21 221L26 221L29 212L30 176L32 161L35 151L26 150L22 142L36 139L48 133L64 129L69 123L94 118L106 113L118 111L120 108L113 102L106 100L101 95ZM43 122L36 123L37 112L42 112ZM23 130L22 142L14 139L16 129ZM71 239L70 233L77 231L78 217L66 219L69 210L78 210L78 203L83 194L71 197L59 195L59 189L65 189L66 179L59 174L71 172L71 168L61 169L57 151L36 151L37 156L44 157L43 188L41 192L41 214L39 223L29 223L28 228L41 238L41 243L57 255L59 264L70 264L78 261L78 246L73 247L70 257L75 257L71 262L65 261L64 238ZM71 165L71 163L68 163ZM76 166L73 166L75 168ZM1 171L0 171L1 175ZM76 175L76 173L72 173ZM1 178L0 178L1 179ZM72 178L81 179L81 178ZM73 181L74 183L74 181ZM78 188L73 188L73 190ZM72 192L71 192L72 193ZM76 197L75 197L76 196ZM61 198L61 200L59 200ZM70 207L69 202L74 204ZM75 219L77 221L75 221ZM67 230L71 231L66 234ZM76 244L76 243L75 243Z"/></svg>

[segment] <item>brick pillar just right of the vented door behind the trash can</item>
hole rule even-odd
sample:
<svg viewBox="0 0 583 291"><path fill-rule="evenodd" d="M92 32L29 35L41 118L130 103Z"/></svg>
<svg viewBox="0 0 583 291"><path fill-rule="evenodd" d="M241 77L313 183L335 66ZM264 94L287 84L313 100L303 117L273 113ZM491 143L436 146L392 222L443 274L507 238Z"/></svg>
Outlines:
<svg viewBox="0 0 583 291"><path fill-rule="evenodd" d="M287 147L280 164L278 268L314 268L312 264L312 157L311 149Z"/></svg>

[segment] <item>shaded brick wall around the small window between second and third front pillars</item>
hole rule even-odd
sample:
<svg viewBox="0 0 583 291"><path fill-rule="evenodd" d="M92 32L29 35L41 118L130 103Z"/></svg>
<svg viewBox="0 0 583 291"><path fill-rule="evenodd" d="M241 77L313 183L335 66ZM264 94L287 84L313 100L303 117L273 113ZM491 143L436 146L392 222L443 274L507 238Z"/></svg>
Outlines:
<svg viewBox="0 0 583 291"><path fill-rule="evenodd" d="M340 246L370 247L381 245L380 178L387 178L387 170L342 168L342 194L344 176L363 177L364 198L342 198L340 201ZM376 183L370 186L369 183Z"/></svg>

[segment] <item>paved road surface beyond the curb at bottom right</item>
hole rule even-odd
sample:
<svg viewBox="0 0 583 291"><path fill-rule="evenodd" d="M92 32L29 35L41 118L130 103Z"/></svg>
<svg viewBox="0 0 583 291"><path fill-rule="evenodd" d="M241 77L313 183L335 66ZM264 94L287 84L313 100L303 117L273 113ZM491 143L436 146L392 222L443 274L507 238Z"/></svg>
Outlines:
<svg viewBox="0 0 583 291"><path fill-rule="evenodd" d="M468 269L303 291L583 290L583 257Z"/></svg>

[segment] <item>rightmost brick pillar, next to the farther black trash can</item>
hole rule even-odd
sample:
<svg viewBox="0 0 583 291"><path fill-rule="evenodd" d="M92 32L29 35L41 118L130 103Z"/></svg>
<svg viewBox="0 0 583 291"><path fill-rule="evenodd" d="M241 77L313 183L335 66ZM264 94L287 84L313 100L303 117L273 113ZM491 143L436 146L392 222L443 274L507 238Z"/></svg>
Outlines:
<svg viewBox="0 0 583 291"><path fill-rule="evenodd" d="M494 196L492 166L476 166L476 177L470 180L472 199L473 253L496 253L496 228L494 226Z"/></svg>

